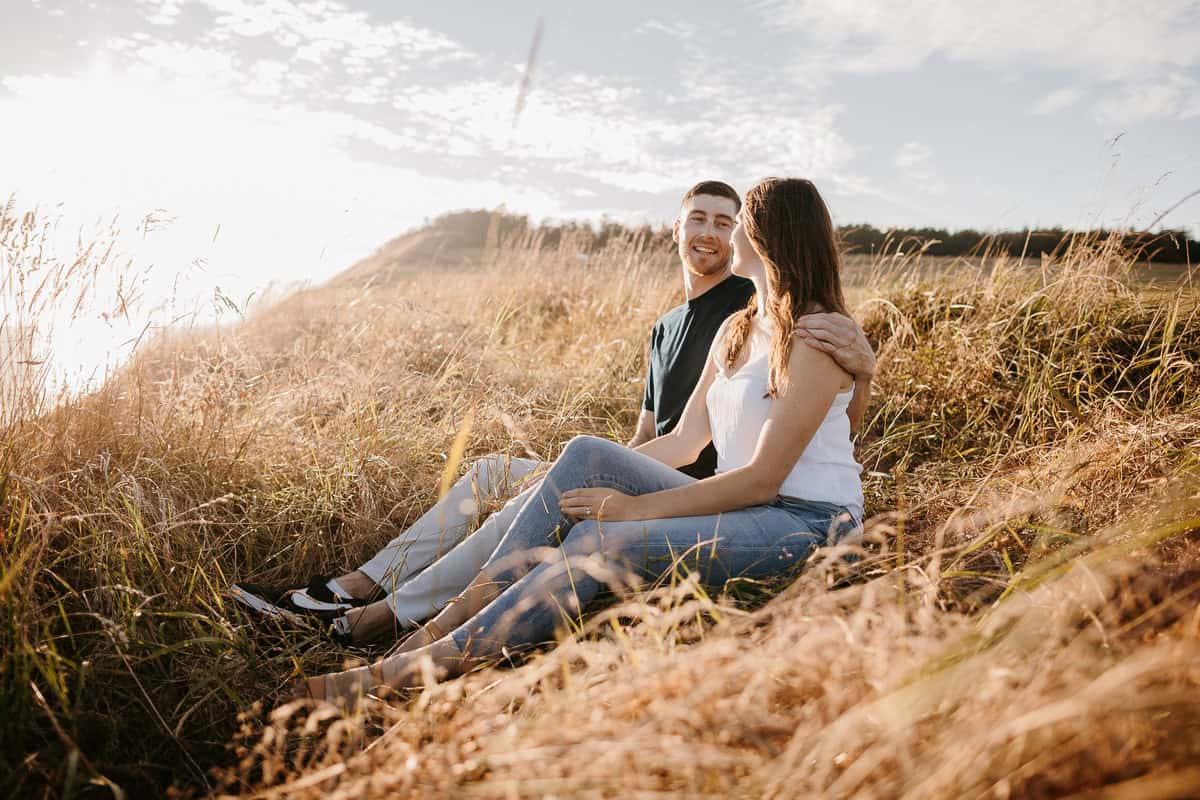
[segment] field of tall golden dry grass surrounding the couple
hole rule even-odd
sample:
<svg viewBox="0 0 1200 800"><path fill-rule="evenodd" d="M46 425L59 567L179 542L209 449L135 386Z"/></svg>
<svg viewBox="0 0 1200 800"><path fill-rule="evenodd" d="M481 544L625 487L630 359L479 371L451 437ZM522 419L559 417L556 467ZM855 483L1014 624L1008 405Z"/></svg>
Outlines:
<svg viewBox="0 0 1200 800"><path fill-rule="evenodd" d="M29 267L24 224L0 245ZM582 246L294 294L56 407L7 384L0 792L1200 794L1196 295L1104 240L851 259L878 353L857 566L722 596L676 576L356 717L276 708L370 654L263 630L224 585L364 559L474 456L630 435L677 267Z"/></svg>

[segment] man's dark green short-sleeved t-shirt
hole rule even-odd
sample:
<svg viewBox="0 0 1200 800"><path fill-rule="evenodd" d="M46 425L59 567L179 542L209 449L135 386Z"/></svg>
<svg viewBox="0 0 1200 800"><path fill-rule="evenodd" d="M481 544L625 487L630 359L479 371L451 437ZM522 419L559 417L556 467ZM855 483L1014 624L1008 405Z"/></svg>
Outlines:
<svg viewBox="0 0 1200 800"><path fill-rule="evenodd" d="M676 306L654 323L650 357L646 371L642 408L654 411L654 433L670 433L704 371L704 359L721 323L742 311L754 296L754 283L734 275L704 294ZM709 444L694 464L682 471L708 477L716 469L716 450Z"/></svg>

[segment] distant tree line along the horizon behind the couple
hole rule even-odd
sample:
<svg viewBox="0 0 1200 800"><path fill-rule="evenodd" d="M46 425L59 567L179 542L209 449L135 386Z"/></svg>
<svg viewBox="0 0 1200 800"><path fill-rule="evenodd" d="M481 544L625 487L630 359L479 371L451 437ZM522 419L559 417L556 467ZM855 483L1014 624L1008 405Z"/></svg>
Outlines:
<svg viewBox="0 0 1200 800"><path fill-rule="evenodd" d="M599 222L544 222L534 225L524 215L505 211L451 211L426 223L426 227L452 236L462 242L484 242L488 236L509 239L527 233L538 233L547 246L557 246L564 236L583 239L592 246L602 247L613 239L625 240L640 236L652 246L671 240L666 225L625 225L612 219ZM1118 236L1129 252L1136 252L1140 260L1159 264L1200 263L1200 241L1189 239L1181 229L1150 231L1088 230L1076 231L1064 228L1042 230L955 230L943 228L889 228L869 224L842 225L838 229L842 247L850 253L894 253L920 249L929 255L983 255L985 253L1039 258L1064 249L1080 236L1108 239Z"/></svg>

